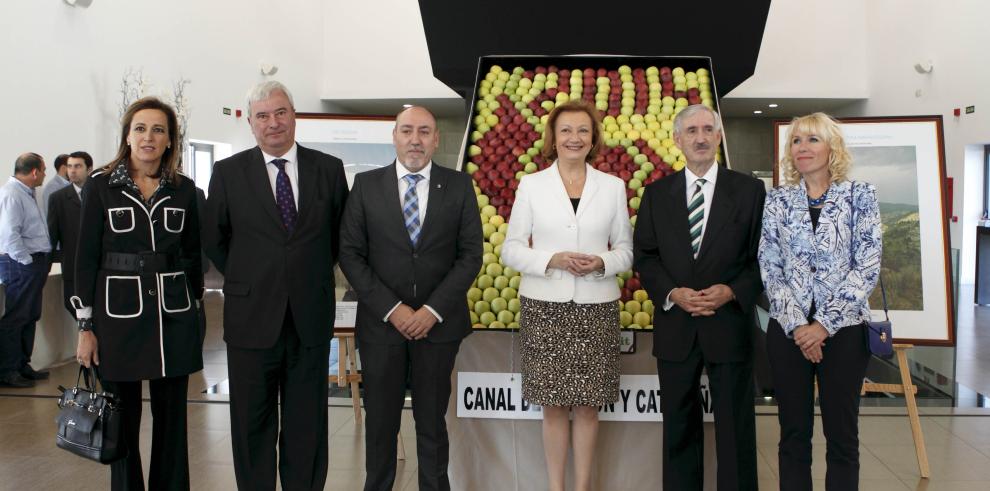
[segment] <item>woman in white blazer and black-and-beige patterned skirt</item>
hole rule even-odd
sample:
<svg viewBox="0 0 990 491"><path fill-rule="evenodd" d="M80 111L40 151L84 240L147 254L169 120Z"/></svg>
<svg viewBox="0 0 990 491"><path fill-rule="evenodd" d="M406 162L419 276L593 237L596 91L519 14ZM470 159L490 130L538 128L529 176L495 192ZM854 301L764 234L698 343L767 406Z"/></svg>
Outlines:
<svg viewBox="0 0 990 491"><path fill-rule="evenodd" d="M549 488L564 489L572 429L575 484L590 489L598 406L619 399L619 286L632 266L621 179L595 170L602 145L594 106L571 101L547 119L543 155L556 162L523 177L502 245L522 272L523 397L543 406Z"/></svg>

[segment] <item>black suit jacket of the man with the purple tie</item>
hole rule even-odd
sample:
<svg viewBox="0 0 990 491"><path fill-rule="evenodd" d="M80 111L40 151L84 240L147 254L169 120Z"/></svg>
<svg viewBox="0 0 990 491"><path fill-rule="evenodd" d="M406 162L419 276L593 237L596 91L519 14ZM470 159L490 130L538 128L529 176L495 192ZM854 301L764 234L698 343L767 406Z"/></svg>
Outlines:
<svg viewBox="0 0 990 491"><path fill-rule="evenodd" d="M282 226L258 147L217 162L203 245L224 275L224 340L247 349L278 340L291 309L304 346L333 336L333 267L347 181L340 159L298 146L299 218Z"/></svg>

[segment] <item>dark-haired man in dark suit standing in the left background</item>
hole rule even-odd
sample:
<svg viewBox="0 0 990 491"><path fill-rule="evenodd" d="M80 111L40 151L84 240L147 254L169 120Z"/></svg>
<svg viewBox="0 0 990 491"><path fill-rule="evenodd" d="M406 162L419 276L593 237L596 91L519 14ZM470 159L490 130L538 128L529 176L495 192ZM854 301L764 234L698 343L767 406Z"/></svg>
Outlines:
<svg viewBox="0 0 990 491"><path fill-rule="evenodd" d="M75 295L76 244L79 242L79 211L82 208L83 184L93 170L93 157L86 152L72 152L63 166L71 185L48 199L48 237L52 240L52 262L62 263L62 298L69 315L76 309L69 302Z"/></svg>

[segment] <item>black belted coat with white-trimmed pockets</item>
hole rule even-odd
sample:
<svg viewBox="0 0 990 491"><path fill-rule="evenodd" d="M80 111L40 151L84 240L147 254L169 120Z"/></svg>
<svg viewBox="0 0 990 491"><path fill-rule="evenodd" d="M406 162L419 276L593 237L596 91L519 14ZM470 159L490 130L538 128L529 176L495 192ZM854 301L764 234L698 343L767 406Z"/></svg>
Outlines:
<svg viewBox="0 0 990 491"><path fill-rule="evenodd" d="M123 165L123 164L121 164ZM111 270L109 252L172 255L168 271ZM152 206L97 172L83 188L76 296L93 307L100 375L111 381L187 375L203 368L196 300L203 297L196 187L179 176Z"/></svg>

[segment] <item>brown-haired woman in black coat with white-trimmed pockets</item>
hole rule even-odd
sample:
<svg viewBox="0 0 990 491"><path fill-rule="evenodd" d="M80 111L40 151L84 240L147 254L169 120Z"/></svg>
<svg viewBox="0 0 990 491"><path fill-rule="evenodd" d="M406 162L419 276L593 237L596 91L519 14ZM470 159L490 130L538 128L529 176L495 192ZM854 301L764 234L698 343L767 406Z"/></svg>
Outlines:
<svg viewBox="0 0 990 491"><path fill-rule="evenodd" d="M189 489L186 399L203 368L197 310L203 298L200 229L175 110L154 97L121 118L110 163L83 187L71 302L79 323L76 360L98 367L121 400L127 457L110 464L110 488L143 490L142 385L151 395L148 488Z"/></svg>

